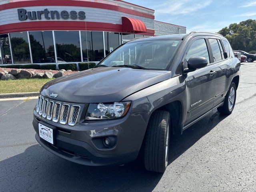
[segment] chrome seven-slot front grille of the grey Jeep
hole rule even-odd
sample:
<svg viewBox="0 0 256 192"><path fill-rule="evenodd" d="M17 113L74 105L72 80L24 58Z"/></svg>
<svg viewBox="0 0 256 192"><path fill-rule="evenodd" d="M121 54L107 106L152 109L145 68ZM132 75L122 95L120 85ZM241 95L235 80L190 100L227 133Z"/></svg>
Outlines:
<svg viewBox="0 0 256 192"><path fill-rule="evenodd" d="M36 112L49 121L74 126L78 121L81 106L55 102L42 96L38 97Z"/></svg>

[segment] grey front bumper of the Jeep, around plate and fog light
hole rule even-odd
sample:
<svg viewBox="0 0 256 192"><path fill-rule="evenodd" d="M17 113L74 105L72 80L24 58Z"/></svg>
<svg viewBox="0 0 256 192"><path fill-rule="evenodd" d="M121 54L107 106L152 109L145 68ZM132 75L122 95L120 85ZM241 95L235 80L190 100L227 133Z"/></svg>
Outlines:
<svg viewBox="0 0 256 192"><path fill-rule="evenodd" d="M137 158L148 115L146 111L137 111L118 120L80 122L71 127L48 121L34 111L33 126L38 143L61 158L89 166L121 165ZM39 137L38 123L55 130L53 145ZM116 146L98 148L93 140L103 136L116 136Z"/></svg>

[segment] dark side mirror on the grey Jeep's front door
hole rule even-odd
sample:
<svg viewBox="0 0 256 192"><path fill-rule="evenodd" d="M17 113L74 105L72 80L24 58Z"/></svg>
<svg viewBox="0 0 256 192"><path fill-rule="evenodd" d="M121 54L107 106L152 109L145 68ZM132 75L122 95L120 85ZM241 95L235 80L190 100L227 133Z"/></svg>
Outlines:
<svg viewBox="0 0 256 192"><path fill-rule="evenodd" d="M188 60L188 68L184 69L184 73L195 71L196 69L204 68L208 64L208 60L204 57L191 57Z"/></svg>

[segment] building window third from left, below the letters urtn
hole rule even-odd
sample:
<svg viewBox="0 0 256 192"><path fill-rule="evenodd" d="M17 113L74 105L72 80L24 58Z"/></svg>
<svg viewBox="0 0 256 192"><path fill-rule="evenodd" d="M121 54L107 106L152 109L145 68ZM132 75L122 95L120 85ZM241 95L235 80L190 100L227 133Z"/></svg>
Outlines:
<svg viewBox="0 0 256 192"><path fill-rule="evenodd" d="M33 63L55 63L52 31L29 32Z"/></svg>

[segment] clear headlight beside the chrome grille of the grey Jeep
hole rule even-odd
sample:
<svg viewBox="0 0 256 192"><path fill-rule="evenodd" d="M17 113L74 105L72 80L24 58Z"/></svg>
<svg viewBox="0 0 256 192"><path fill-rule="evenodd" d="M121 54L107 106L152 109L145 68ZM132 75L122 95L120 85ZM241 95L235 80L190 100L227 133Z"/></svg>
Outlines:
<svg viewBox="0 0 256 192"><path fill-rule="evenodd" d="M86 120L113 119L124 116L131 102L114 102L114 103L91 103L86 112Z"/></svg>

